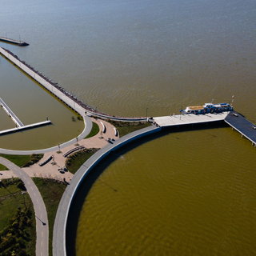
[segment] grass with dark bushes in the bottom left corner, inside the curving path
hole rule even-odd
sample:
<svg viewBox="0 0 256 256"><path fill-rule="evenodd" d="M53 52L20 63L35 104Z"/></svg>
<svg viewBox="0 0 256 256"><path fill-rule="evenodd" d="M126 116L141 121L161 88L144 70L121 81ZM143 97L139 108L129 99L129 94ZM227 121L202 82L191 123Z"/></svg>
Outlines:
<svg viewBox="0 0 256 256"><path fill-rule="evenodd" d="M36 228L29 194L18 178L0 182L0 254L35 255ZM22 248L24 247L24 248Z"/></svg>

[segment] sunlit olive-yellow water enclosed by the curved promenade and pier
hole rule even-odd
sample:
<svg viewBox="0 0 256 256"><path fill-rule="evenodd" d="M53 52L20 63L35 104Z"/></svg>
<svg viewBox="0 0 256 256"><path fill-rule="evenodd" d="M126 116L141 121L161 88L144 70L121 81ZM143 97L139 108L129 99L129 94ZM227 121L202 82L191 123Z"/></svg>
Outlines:
<svg viewBox="0 0 256 256"><path fill-rule="evenodd" d="M77 255L254 255L255 164L229 128L139 146L86 197Z"/></svg>

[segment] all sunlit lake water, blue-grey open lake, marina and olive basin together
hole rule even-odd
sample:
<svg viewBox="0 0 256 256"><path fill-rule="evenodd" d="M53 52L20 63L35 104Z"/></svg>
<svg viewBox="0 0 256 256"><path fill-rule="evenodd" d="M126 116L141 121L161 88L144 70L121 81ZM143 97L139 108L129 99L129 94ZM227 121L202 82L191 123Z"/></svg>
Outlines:
<svg viewBox="0 0 256 256"><path fill-rule="evenodd" d="M2 35L30 46L0 46L106 113L167 115L234 94L256 122L255 14L253 0L3 0ZM1 98L22 122L54 122L1 137L0 147L42 148L81 132L74 113L4 58L0 68ZM0 118L1 129L13 126ZM147 142L94 183L77 254L252 255L254 173L254 148L229 128Z"/></svg>

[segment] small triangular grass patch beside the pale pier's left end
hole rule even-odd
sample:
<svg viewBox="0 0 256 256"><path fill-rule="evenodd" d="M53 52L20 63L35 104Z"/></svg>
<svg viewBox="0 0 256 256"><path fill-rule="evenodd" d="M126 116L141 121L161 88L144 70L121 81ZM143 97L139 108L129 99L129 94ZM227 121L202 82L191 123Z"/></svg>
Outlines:
<svg viewBox="0 0 256 256"><path fill-rule="evenodd" d="M130 134L135 130L140 130L142 128L151 126L149 122L119 122L108 120L111 124L113 124L119 132L119 137L122 137L126 134Z"/></svg>

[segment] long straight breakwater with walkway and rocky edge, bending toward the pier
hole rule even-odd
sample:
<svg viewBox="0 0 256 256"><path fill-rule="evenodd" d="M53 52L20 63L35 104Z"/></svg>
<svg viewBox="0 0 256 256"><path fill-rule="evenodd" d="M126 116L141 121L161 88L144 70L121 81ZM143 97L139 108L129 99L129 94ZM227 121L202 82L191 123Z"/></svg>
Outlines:
<svg viewBox="0 0 256 256"><path fill-rule="evenodd" d="M87 105L86 103L79 100L73 94L70 94L67 90L59 86L58 83L53 82L50 78L46 78L43 74L41 74L38 70L35 70L32 66L27 64L18 58L17 55L13 54L10 50L6 50L0 47L0 54L6 57L10 62L14 63L14 65L18 66L22 71L28 74L31 78L37 81L40 85L42 85L46 90L48 90L51 94L54 94L55 97L64 102L67 106L70 106L71 109L76 111L78 114L82 116L89 115L98 118L111 119L116 121L125 121L125 122L140 122L146 121L146 117L117 117L110 114L104 114L98 110L95 110L93 107Z"/></svg>

